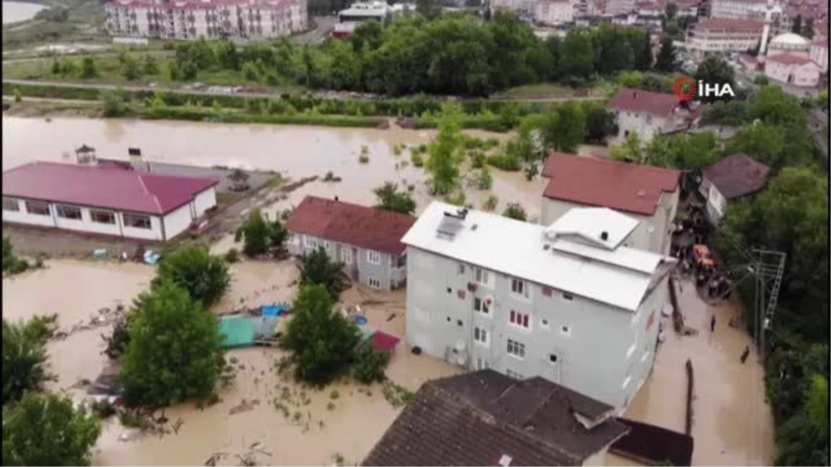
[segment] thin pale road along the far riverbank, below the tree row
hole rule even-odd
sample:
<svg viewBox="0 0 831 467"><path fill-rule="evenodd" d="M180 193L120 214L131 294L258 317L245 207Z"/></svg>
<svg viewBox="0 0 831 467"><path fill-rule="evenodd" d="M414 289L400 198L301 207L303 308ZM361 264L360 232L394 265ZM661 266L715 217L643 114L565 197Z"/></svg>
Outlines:
<svg viewBox="0 0 831 467"><path fill-rule="evenodd" d="M123 91L132 91L132 92L140 92L140 91L165 91L171 92L174 94L184 94L187 96L241 96L241 97L251 97L254 99L259 98L271 98L274 96L279 96L279 91L274 92L208 92L208 91L193 91L193 90L185 90L185 89L175 89L169 87L154 87L154 86L116 86L111 84L90 84L90 83L66 83L66 82L59 82L59 81L30 81L30 80L2 80L3 84L11 84L11 85L22 85L22 86L54 86L54 87L71 87L71 88L82 88L82 89L97 89L100 91L115 91L116 89L121 89ZM317 96L319 97L327 97L327 93L318 93ZM343 96L343 97L334 97L334 98L348 98L354 100L361 100L361 101L371 101L375 99L374 97L365 97L365 96ZM545 98L490 98L488 101L494 102L509 102L509 101L521 101L521 102L565 102L565 101L603 101L606 97L604 96L574 96L574 97L545 97ZM465 98L459 99L459 101L479 101L478 98Z"/></svg>

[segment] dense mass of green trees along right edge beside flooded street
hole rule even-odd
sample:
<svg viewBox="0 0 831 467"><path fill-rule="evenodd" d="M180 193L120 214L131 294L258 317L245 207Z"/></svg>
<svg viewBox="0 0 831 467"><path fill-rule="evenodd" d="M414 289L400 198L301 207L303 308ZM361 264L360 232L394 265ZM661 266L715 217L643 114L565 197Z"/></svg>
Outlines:
<svg viewBox="0 0 831 467"><path fill-rule="evenodd" d="M762 86L749 101L710 106L705 120L738 130L726 141L711 133L671 135L645 147L633 135L613 148L612 156L691 170L741 153L770 165L768 188L730 203L717 241L733 264L747 261L739 245L788 254L765 349L767 396L779 447L776 465L828 465L828 175L819 166L807 116L800 102L779 86ZM752 287L743 286L740 294L752 303ZM749 318L753 332L755 316L750 313Z"/></svg>

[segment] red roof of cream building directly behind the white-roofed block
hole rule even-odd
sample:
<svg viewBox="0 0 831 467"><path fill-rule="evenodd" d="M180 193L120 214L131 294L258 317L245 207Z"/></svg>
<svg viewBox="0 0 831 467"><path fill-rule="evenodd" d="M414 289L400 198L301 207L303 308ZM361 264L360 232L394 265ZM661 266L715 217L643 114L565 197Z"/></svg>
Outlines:
<svg viewBox="0 0 831 467"><path fill-rule="evenodd" d="M552 153L543 167L543 196L589 206L652 215L662 193L678 189L681 172L579 155Z"/></svg>

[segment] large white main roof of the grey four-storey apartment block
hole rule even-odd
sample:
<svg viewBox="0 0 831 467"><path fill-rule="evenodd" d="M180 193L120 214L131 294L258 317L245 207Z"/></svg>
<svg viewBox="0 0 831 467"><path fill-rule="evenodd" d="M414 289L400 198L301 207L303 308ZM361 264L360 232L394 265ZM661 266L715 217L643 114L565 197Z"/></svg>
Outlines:
<svg viewBox="0 0 831 467"><path fill-rule="evenodd" d="M671 261L627 247L592 248L563 238L551 242L542 225L472 209L455 238L440 238L436 229L445 212L457 209L433 201L401 242L630 311L637 310L658 265Z"/></svg>

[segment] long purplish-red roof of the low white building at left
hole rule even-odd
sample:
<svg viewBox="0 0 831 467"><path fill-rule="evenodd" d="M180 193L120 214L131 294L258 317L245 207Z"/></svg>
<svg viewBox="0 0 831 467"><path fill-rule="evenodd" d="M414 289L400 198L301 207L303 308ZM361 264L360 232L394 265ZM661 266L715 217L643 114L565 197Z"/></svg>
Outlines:
<svg viewBox="0 0 831 467"><path fill-rule="evenodd" d="M196 194L218 183L214 177L33 162L3 172L2 195L159 215L189 203Z"/></svg>

